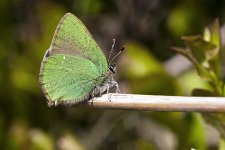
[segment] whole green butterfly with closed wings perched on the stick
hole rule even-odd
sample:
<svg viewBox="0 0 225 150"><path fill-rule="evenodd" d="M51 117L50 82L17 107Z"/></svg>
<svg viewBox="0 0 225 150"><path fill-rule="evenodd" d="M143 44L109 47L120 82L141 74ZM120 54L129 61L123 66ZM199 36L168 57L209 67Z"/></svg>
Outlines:
<svg viewBox="0 0 225 150"><path fill-rule="evenodd" d="M114 73L115 65L107 62L85 25L65 14L40 68L39 82L48 105L74 105L113 87L118 91Z"/></svg>

